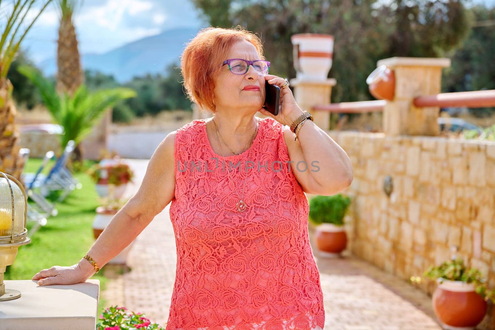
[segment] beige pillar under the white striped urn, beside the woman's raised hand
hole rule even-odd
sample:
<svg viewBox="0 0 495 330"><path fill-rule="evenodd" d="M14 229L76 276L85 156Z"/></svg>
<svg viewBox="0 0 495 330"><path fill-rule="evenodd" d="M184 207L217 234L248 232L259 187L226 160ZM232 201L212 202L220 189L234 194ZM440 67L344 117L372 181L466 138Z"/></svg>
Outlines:
<svg viewBox="0 0 495 330"><path fill-rule="evenodd" d="M294 88L294 98L303 111L313 115L314 123L322 130L330 129L330 112L312 110L315 105L330 104L332 87L337 83L333 78L316 81L294 78L289 81Z"/></svg>

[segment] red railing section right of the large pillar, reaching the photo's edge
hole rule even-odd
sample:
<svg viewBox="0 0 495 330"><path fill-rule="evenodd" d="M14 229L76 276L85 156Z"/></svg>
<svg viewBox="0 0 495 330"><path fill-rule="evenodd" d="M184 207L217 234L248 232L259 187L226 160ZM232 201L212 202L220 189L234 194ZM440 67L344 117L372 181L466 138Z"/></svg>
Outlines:
<svg viewBox="0 0 495 330"><path fill-rule="evenodd" d="M414 99L414 105L417 107L465 106L468 108L495 106L495 90L418 96Z"/></svg>

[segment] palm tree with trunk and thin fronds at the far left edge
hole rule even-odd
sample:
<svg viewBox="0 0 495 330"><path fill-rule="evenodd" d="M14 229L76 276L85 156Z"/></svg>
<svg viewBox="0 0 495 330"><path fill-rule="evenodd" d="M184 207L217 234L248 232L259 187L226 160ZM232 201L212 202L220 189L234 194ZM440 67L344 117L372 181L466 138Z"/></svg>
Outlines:
<svg viewBox="0 0 495 330"><path fill-rule="evenodd" d="M0 23L0 171L18 180L20 180L24 163L19 156L19 131L15 123L17 111L12 100L13 88L7 79L7 72L22 40L51 0L44 0L38 14L26 20L28 11L36 2L37 0L12 0L6 3L0 0L0 12L2 13ZM35 7L38 4L36 3ZM2 7L2 5L5 6ZM3 20L4 13L6 13L6 20ZM3 25L4 22L6 22L5 25ZM22 27L23 23L27 23L27 27Z"/></svg>

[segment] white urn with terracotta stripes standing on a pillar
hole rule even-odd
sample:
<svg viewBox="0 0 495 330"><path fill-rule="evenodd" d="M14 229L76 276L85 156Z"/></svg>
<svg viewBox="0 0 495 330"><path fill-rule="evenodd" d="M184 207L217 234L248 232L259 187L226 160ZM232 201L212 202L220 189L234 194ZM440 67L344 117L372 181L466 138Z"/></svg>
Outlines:
<svg viewBox="0 0 495 330"><path fill-rule="evenodd" d="M328 34L301 33L291 37L296 77L326 80L332 68L334 37Z"/></svg>

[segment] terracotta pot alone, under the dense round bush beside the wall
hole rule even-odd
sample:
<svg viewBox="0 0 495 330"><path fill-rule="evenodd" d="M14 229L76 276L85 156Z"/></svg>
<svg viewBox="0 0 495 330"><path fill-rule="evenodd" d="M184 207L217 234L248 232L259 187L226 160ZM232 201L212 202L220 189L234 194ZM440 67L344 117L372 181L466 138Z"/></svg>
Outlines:
<svg viewBox="0 0 495 330"><path fill-rule="evenodd" d="M321 224L315 231L316 246L323 256L338 257L346 249L347 233L344 226Z"/></svg>

